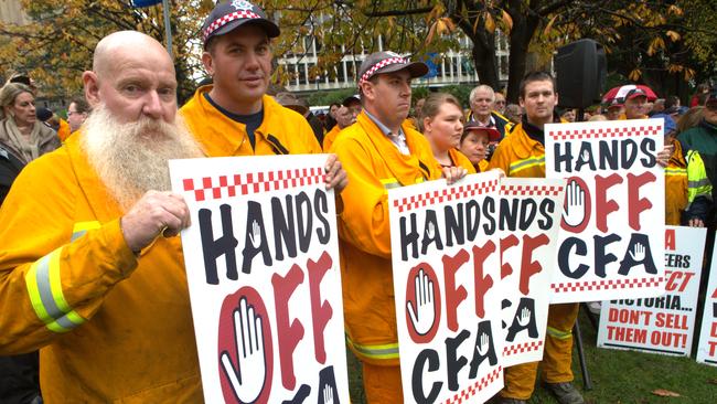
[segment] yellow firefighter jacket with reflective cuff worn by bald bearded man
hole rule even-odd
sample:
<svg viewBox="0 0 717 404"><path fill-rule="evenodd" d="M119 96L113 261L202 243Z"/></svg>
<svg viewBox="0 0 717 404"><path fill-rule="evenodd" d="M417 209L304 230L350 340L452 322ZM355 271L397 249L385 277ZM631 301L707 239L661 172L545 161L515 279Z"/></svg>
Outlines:
<svg viewBox="0 0 717 404"><path fill-rule="evenodd" d="M46 403L202 401L179 237L138 258L77 132L0 210L0 354L40 350Z"/></svg>

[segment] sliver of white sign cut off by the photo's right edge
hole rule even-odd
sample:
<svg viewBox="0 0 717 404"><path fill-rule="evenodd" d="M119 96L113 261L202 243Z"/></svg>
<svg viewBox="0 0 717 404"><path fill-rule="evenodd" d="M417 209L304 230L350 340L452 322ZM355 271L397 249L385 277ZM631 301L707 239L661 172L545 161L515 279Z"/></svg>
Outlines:
<svg viewBox="0 0 717 404"><path fill-rule="evenodd" d="M717 241L715 241L717 243ZM717 257L713 249L709 281L702 313L697 362L717 366Z"/></svg>

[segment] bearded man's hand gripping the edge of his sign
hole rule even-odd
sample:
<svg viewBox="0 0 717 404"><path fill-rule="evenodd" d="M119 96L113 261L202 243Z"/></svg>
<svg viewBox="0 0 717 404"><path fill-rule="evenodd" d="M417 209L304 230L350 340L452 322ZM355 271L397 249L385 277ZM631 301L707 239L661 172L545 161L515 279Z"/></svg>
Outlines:
<svg viewBox="0 0 717 404"><path fill-rule="evenodd" d="M121 219L127 246L139 252L162 234L172 237L190 225L190 210L176 193L147 191Z"/></svg>

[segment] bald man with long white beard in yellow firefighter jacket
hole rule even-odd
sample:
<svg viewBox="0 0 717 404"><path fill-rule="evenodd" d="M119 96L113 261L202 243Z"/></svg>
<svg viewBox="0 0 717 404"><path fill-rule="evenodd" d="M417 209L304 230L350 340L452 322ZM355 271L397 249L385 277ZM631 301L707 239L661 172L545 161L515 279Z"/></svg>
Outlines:
<svg viewBox="0 0 717 404"><path fill-rule="evenodd" d="M0 354L40 349L45 403L201 402L167 160L202 157L171 59L113 33L83 74L93 113L29 164L0 210Z"/></svg>

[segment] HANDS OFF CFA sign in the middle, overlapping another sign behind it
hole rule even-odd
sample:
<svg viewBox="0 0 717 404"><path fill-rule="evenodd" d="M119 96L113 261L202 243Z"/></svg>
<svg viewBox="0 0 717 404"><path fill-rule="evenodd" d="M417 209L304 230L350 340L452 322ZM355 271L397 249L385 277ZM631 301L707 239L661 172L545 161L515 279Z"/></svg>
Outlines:
<svg viewBox="0 0 717 404"><path fill-rule="evenodd" d="M503 386L494 172L388 191L404 398L484 402Z"/></svg>

